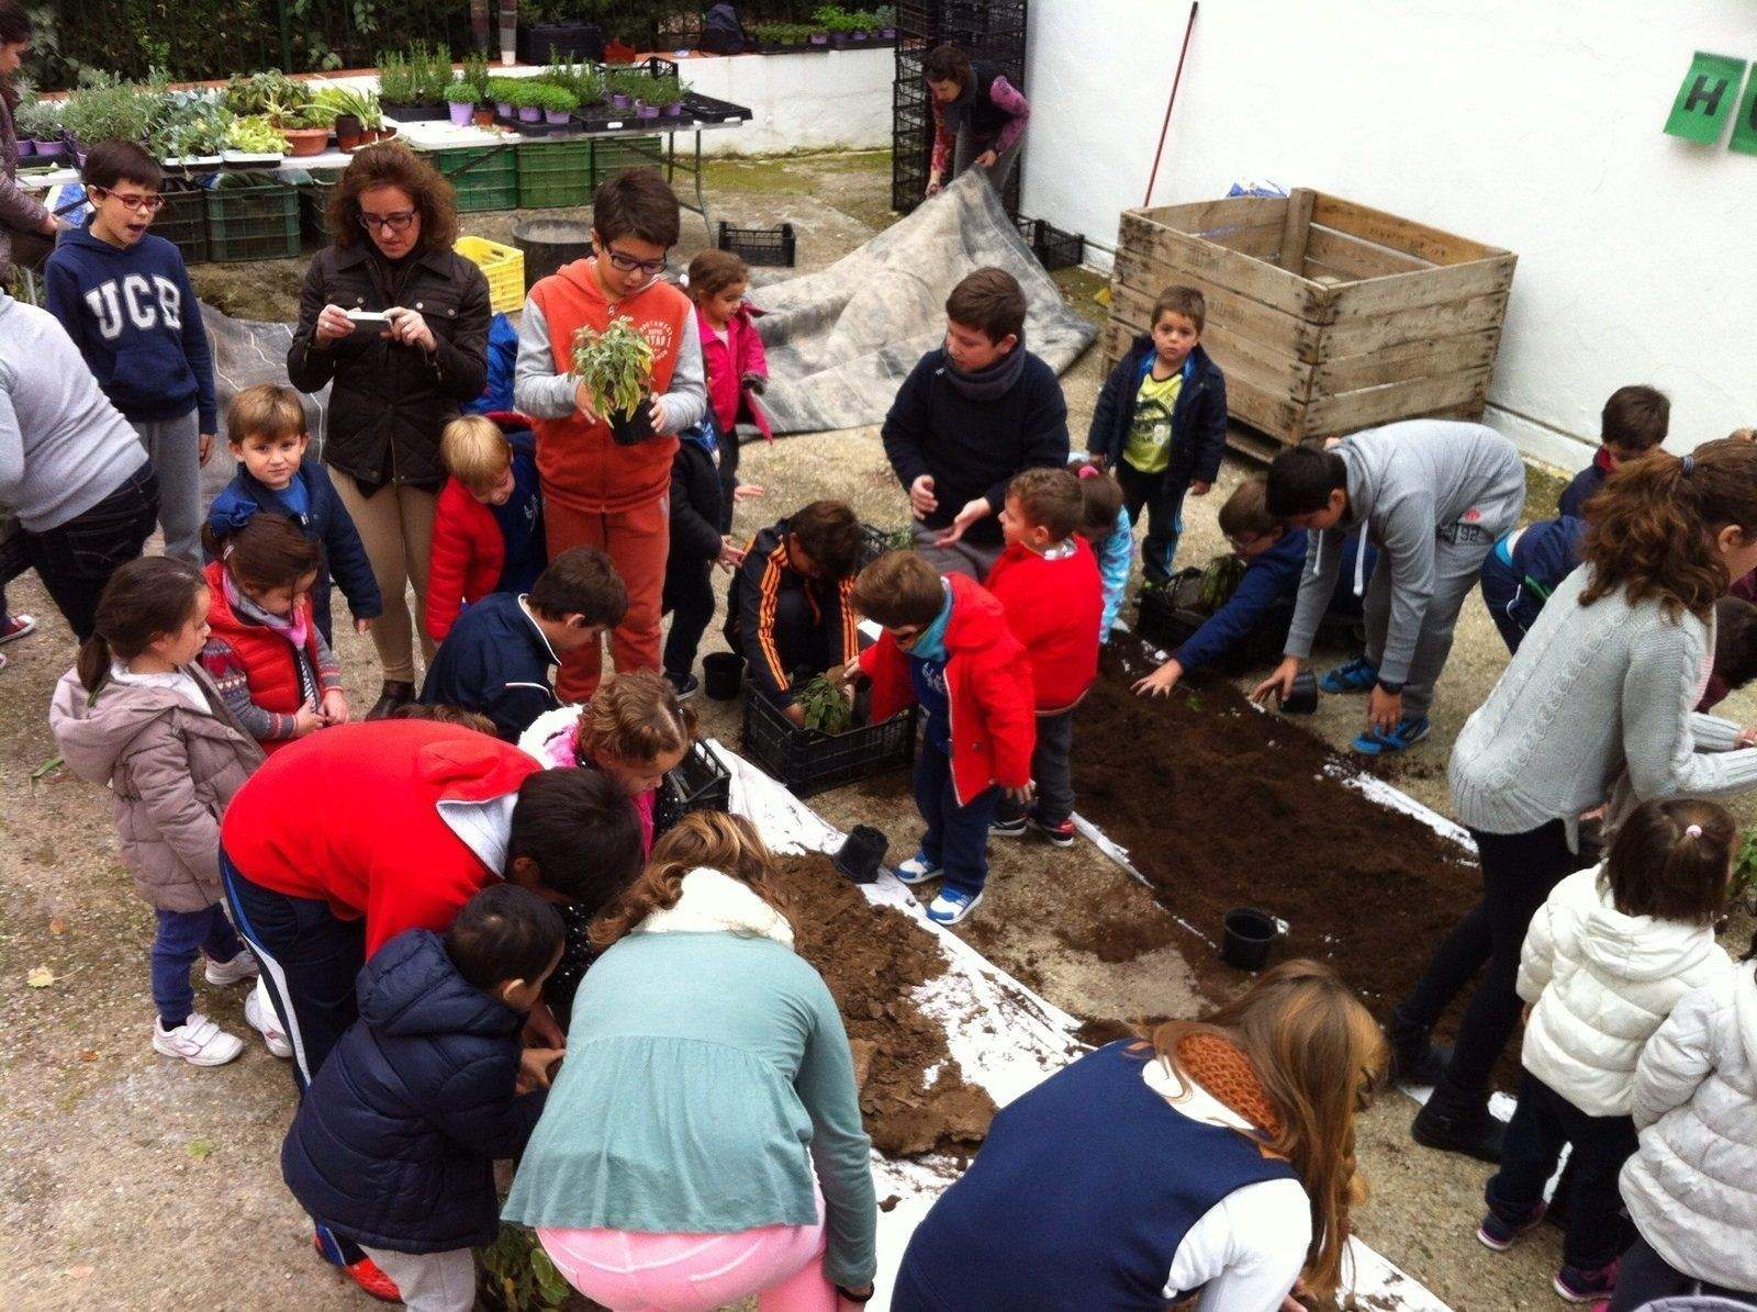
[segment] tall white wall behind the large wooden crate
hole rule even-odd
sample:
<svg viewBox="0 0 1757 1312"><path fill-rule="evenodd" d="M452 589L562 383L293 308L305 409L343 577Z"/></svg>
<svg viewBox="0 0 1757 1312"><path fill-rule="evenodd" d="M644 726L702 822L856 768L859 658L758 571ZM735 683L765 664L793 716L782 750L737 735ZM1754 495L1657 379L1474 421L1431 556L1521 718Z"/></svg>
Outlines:
<svg viewBox="0 0 1757 1312"><path fill-rule="evenodd" d="M1031 5L1024 213L1116 242L1188 14ZM1153 202L1274 179L1504 246L1488 422L1581 465L1606 395L1652 383L1688 450L1757 423L1757 156L1660 126L1694 49L1757 60L1750 19L1743 0L1209 0Z"/></svg>

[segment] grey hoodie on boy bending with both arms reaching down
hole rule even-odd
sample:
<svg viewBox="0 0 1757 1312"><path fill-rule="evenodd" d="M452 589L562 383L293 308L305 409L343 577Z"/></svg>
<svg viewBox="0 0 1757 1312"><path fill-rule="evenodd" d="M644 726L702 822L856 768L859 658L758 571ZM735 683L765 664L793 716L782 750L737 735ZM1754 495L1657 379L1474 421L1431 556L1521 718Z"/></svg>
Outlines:
<svg viewBox="0 0 1757 1312"><path fill-rule="evenodd" d="M1392 571L1392 622L1379 676L1404 683L1416 636L1434 595L1434 551L1446 541L1493 541L1509 532L1525 504L1520 450L1493 429L1455 420L1406 420L1344 437L1335 453L1348 465L1348 518L1311 534L1305 576L1288 629L1286 655L1311 655L1318 622L1335 594L1342 539L1363 527ZM1365 551L1355 562L1355 595L1365 592Z"/></svg>

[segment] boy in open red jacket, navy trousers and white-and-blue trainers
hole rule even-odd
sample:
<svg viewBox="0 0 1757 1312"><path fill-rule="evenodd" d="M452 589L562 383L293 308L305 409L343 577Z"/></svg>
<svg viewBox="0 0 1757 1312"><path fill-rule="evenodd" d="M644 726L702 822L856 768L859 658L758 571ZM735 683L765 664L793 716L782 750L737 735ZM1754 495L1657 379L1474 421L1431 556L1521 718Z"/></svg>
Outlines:
<svg viewBox="0 0 1757 1312"><path fill-rule="evenodd" d="M944 875L928 919L954 926L982 901L1000 794L1031 801L1031 659L987 588L965 574L940 578L915 551L886 551L866 566L850 601L884 627L845 671L871 680L873 722L912 703L926 717L915 806L928 827L898 878L914 885Z"/></svg>

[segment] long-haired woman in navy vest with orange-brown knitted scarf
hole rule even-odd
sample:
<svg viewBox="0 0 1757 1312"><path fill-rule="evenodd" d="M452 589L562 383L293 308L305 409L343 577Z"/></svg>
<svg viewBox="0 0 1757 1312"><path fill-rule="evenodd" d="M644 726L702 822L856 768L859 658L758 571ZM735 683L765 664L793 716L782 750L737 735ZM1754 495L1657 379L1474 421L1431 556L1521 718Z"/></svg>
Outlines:
<svg viewBox="0 0 1757 1312"><path fill-rule="evenodd" d="M1372 1015L1314 961L1202 1022L1089 1052L994 1117L915 1229L891 1307L1328 1298L1363 1196L1355 1114L1385 1059Z"/></svg>

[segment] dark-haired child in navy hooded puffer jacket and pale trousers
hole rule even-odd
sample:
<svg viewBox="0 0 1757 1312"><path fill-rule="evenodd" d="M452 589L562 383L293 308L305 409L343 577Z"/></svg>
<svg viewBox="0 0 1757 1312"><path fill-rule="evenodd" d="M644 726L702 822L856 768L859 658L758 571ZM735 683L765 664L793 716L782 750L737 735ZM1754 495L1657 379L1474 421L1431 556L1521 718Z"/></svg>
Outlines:
<svg viewBox="0 0 1757 1312"><path fill-rule="evenodd" d="M518 1042L559 957L555 908L513 883L464 903L443 938L397 934L286 1131L286 1187L415 1312L476 1305L471 1249L501 1231L494 1161L524 1152L562 1056Z"/></svg>

